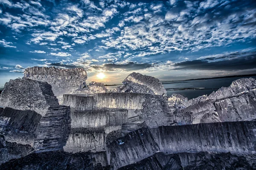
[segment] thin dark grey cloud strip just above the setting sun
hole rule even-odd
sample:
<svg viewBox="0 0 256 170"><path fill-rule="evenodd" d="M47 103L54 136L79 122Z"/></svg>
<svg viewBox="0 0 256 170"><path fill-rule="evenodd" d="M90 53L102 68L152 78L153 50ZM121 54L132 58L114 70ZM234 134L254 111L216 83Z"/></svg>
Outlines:
<svg viewBox="0 0 256 170"><path fill-rule="evenodd" d="M94 69L105 69L106 71L115 71L116 69L122 69L125 71L131 71L131 70L140 70L140 69L147 69L149 67L153 67L152 64L149 63L125 63L125 64L104 64L101 66L92 66Z"/></svg>

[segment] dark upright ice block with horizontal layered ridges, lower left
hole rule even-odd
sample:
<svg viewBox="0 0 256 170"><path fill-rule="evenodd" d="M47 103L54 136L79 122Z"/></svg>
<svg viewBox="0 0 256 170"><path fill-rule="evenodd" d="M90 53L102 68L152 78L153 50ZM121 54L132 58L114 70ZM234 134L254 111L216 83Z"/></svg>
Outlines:
<svg viewBox="0 0 256 170"><path fill-rule="evenodd" d="M36 153L62 150L70 132L70 107L57 105L49 107L40 121L35 140Z"/></svg>

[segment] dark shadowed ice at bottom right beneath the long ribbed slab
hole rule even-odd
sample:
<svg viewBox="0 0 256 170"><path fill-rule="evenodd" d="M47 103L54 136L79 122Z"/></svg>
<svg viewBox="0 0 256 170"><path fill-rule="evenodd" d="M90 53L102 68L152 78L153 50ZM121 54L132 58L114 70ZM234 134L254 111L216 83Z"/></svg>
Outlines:
<svg viewBox="0 0 256 170"><path fill-rule="evenodd" d="M250 154L249 156L255 156ZM247 156L231 153L155 153L134 164L119 170L223 170L223 169L255 169L247 160Z"/></svg>

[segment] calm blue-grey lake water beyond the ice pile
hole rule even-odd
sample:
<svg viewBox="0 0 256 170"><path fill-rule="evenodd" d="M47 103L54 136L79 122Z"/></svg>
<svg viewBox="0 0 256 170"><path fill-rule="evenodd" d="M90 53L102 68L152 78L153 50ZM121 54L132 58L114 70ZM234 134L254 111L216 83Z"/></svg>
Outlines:
<svg viewBox="0 0 256 170"><path fill-rule="evenodd" d="M256 76L251 76L256 78ZM240 78L212 78L203 80L188 80L188 81L165 81L163 86L167 91L167 95L177 93L188 99L197 98L201 95L209 95L213 91L217 91L221 87L228 87L230 84ZM106 86L108 89L113 89L116 86Z"/></svg>

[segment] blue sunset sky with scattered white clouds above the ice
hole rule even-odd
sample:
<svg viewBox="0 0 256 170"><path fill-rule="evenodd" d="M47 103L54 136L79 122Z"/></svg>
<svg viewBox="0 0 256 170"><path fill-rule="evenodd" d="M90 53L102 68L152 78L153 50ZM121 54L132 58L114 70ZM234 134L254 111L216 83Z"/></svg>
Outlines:
<svg viewBox="0 0 256 170"><path fill-rule="evenodd" d="M0 88L32 66L105 84L253 74L256 1L0 0Z"/></svg>

